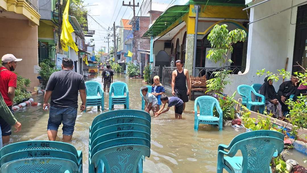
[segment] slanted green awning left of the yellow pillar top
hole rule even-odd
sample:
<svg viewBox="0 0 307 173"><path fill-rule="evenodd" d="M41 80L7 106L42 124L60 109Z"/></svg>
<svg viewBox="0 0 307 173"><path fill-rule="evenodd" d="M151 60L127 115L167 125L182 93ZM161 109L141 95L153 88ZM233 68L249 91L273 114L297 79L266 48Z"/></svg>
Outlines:
<svg viewBox="0 0 307 173"><path fill-rule="evenodd" d="M189 12L188 5L176 5L169 7L159 18L157 18L156 22L150 27L149 30L142 36L142 38L155 38L161 32L166 30L169 26L171 26L174 22L179 20L182 16Z"/></svg>

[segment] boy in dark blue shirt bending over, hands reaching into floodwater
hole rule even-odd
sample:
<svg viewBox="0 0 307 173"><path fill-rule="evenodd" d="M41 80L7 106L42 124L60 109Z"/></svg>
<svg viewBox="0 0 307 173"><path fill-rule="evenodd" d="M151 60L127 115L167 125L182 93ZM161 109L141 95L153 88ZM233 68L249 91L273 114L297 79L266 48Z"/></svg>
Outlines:
<svg viewBox="0 0 307 173"><path fill-rule="evenodd" d="M182 111L183 111L183 101L179 99L178 97L167 97L165 94L161 95L161 102L163 103L163 106L161 109L156 113L155 116L159 116L162 113L165 113L169 111L169 108L172 106L175 106L175 119L182 119ZM167 108L162 111L166 105L168 104Z"/></svg>

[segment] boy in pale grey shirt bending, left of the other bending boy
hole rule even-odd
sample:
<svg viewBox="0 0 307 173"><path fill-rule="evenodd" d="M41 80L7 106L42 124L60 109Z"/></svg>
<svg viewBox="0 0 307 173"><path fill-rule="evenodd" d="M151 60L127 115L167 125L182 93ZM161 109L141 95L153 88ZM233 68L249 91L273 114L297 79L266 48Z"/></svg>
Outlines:
<svg viewBox="0 0 307 173"><path fill-rule="evenodd" d="M158 100L156 96L148 93L148 88L146 86L142 86L141 91L145 100L145 111L149 113L150 110L152 110L153 115L156 115L158 107Z"/></svg>

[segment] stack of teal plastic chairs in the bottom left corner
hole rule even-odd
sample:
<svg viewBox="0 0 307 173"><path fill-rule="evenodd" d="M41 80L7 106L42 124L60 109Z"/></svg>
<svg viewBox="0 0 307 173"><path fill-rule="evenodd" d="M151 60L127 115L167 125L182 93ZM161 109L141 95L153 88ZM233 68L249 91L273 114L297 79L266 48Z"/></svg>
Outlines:
<svg viewBox="0 0 307 173"><path fill-rule="evenodd" d="M82 151L68 143L25 141L0 150L0 172L82 173Z"/></svg>

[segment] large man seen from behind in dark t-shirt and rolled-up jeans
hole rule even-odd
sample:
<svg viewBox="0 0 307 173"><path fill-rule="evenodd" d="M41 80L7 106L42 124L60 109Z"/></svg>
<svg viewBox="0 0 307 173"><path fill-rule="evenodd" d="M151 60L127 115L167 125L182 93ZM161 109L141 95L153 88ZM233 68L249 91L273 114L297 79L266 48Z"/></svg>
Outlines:
<svg viewBox="0 0 307 173"><path fill-rule="evenodd" d="M63 141L69 142L72 139L78 108L78 91L82 100L80 111L84 111L86 103L86 86L81 74L72 69L73 61L63 58L62 69L51 74L46 86L44 97L44 111L49 109L47 133L50 141L55 141L57 131L63 123ZM51 97L50 105L48 103ZM45 109L46 108L46 109Z"/></svg>

